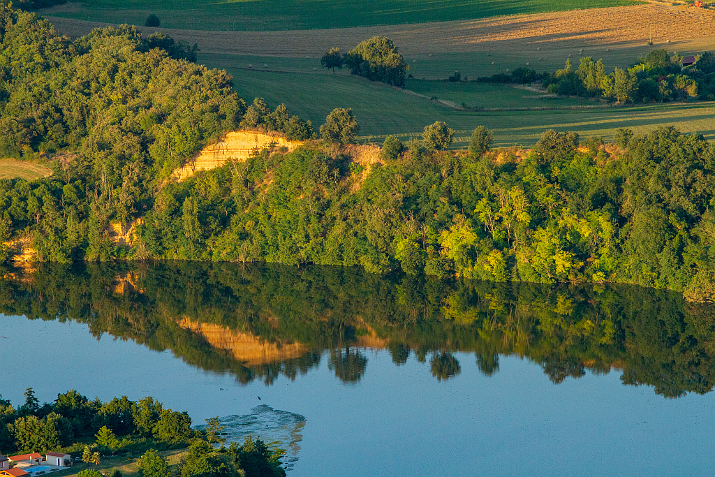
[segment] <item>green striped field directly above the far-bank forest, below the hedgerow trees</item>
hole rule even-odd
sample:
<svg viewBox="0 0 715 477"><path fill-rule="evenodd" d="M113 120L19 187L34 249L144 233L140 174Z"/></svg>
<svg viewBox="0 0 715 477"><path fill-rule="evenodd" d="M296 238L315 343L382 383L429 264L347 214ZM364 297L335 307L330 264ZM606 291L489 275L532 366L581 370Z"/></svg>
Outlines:
<svg viewBox="0 0 715 477"><path fill-rule="evenodd" d="M231 61L234 58L235 61ZM575 131L582 136L601 136L613 139L619 127L631 127L636 132L648 132L660 124L674 124L683 132L700 132L707 139L715 139L715 103L648 104L630 107L598 109L555 109L547 111L455 111L385 84L368 82L358 77L332 74L325 70L313 72L312 60L292 59L292 72L261 71L265 57L252 57L254 69L247 69L247 59L202 55L199 61L209 67L226 68L234 76L237 92L251 102L262 97L271 106L285 103L292 114L310 119L314 127L325 121L336 107L352 108L360 122L363 142L382 142L386 134L400 134L407 140L417 137L425 125L444 121L457 132L455 146L468 142L471 131L484 125L493 130L498 146L530 146L546 129ZM305 63L302 63L305 61ZM270 64L278 67L279 59ZM285 64L285 70L290 69ZM515 89L504 84L448 84L410 80L408 87L420 94L450 99L458 104L487 103L495 107L573 107L578 104L596 105L577 99L529 99L536 93ZM493 88L493 89L490 89ZM527 98L523 98L527 96ZM558 101L563 103L558 104ZM473 102L474 104L470 104ZM488 104L484 104L488 107Z"/></svg>

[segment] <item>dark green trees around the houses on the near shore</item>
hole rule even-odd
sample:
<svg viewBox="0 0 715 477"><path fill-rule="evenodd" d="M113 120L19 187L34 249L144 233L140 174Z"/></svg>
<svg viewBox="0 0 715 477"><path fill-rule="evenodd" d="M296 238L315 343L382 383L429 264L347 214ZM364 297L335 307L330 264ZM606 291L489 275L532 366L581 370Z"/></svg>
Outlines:
<svg viewBox="0 0 715 477"><path fill-rule="evenodd" d="M103 456L144 453L137 461L141 477L285 477L280 449L251 436L242 445L225 447L218 418L207 420L206 431L197 431L186 411L166 409L152 397L132 401L122 396L102 403L69 390L52 403L40 404L28 388L25 398L14 408L0 395L0 452L7 456L63 451L96 465ZM221 443L221 448L212 443ZM156 451L187 447L174 472ZM103 474L90 468L78 475ZM121 475L116 469L112 473Z"/></svg>

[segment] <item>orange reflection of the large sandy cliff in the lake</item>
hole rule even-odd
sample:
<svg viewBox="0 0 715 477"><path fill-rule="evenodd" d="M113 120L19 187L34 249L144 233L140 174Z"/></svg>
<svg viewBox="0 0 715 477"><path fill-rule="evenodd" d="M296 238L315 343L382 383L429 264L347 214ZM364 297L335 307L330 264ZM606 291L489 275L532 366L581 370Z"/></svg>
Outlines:
<svg viewBox="0 0 715 477"><path fill-rule="evenodd" d="M198 323L189 318L182 318L178 324L184 330L191 330L201 336L214 348L230 351L234 358L246 365L300 358L310 350L301 343L268 343L249 333L240 333L212 323Z"/></svg>

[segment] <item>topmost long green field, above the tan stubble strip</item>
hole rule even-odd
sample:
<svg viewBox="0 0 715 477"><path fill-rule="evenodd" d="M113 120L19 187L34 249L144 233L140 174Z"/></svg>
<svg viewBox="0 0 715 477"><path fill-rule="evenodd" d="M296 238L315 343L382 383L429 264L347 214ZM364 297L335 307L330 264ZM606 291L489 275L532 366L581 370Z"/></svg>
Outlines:
<svg viewBox="0 0 715 477"><path fill-rule="evenodd" d="M329 29L486 18L636 4L629 0L85 0L59 16L199 30Z"/></svg>

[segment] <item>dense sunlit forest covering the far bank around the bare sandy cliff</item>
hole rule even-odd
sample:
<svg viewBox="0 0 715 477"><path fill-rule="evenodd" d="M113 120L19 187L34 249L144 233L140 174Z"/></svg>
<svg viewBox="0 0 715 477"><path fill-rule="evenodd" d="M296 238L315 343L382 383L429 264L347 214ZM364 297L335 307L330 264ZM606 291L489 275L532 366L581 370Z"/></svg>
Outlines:
<svg viewBox="0 0 715 477"><path fill-rule="evenodd" d="M285 107L247 108L229 75L166 37L124 26L69 41L7 6L0 22L0 152L52 155L56 170L0 181L0 240L29 240L41 261L359 265L714 296L715 148L699 134L623 129L604 148L549 131L526 157L505 157L484 128L469 151L443 150L453 132L438 122L422 142L390 137L365 163L340 145L358 122L336 110L295 152L263 149L175 182L174 169L241 124L315 132ZM110 240L110 222L136 223L131 246Z"/></svg>

